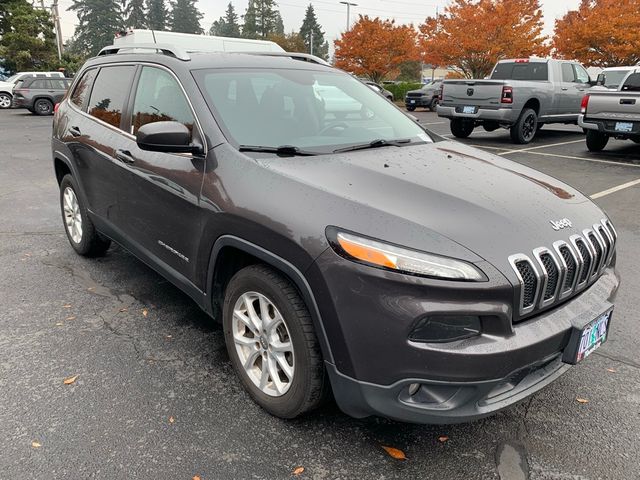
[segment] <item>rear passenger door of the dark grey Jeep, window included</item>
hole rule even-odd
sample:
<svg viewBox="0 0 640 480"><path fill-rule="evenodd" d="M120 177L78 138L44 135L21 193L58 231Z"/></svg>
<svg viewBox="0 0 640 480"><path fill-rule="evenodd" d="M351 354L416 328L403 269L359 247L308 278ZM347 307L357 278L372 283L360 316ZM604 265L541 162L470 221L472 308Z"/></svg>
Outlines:
<svg viewBox="0 0 640 480"><path fill-rule="evenodd" d="M71 96L74 108L69 109L65 129L90 210L120 229L119 202L127 171L116 152L126 148L131 138L121 126L135 72L133 65L87 71Z"/></svg>

